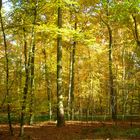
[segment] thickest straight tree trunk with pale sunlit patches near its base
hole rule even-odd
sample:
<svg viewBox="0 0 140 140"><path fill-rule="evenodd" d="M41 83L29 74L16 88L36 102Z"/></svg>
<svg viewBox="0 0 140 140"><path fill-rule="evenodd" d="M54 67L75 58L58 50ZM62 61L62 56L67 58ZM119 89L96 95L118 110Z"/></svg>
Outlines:
<svg viewBox="0 0 140 140"><path fill-rule="evenodd" d="M61 0L58 1L58 29L62 28ZM57 35L57 126L65 125L63 93L62 93L62 35L59 31Z"/></svg>

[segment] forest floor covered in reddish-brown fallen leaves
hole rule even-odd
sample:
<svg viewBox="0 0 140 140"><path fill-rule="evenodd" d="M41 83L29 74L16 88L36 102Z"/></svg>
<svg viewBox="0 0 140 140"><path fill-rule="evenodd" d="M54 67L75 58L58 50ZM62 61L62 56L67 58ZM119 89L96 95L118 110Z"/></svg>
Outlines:
<svg viewBox="0 0 140 140"><path fill-rule="evenodd" d="M19 125L13 125L14 136L8 133L8 125L0 124L0 140L20 140ZM25 125L22 140L140 140L140 122L66 122L56 127L55 122Z"/></svg>

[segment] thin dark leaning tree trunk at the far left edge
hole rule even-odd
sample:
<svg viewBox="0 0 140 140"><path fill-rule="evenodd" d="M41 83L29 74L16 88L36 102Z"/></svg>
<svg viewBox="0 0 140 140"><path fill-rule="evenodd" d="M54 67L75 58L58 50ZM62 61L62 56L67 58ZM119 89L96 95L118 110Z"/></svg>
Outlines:
<svg viewBox="0 0 140 140"><path fill-rule="evenodd" d="M3 19L2 19L2 0L0 0L0 24L3 34L3 42L4 42L4 49L5 49L5 60L6 60L6 98L7 98L7 116L8 116L8 124L9 124L9 131L10 134L13 135L13 128L12 128L12 122L11 122L11 107L10 107L10 97L9 97L9 58L8 58L8 47L6 42L6 34L4 30L3 25Z"/></svg>

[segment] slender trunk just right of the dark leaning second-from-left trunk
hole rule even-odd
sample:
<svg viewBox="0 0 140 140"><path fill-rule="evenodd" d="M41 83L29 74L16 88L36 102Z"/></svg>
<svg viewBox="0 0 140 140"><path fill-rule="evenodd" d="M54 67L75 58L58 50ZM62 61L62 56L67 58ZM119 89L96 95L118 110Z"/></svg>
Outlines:
<svg viewBox="0 0 140 140"><path fill-rule="evenodd" d="M36 0L35 2L35 8L34 8L34 20L33 20L33 25L32 25L32 37L31 37L31 62L30 62L30 66L31 66L31 73L30 73L30 106L29 106L29 112L30 112L30 116L29 116L29 124L33 123L33 112L34 112L34 70L35 70L35 23L36 23L36 17L37 17L37 3L38 1Z"/></svg>

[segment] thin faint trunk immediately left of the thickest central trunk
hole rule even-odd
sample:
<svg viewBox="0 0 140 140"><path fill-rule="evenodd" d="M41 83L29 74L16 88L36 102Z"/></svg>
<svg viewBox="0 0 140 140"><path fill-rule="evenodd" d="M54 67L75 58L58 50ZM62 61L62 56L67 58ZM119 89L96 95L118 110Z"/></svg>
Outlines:
<svg viewBox="0 0 140 140"><path fill-rule="evenodd" d="M47 66L47 55L45 48L43 49L44 54L44 60L45 60L45 81L46 81L46 90L45 93L48 95L48 104L49 104L49 119L52 119L52 104L51 104L51 84L50 84L50 76L48 72L48 66Z"/></svg>

